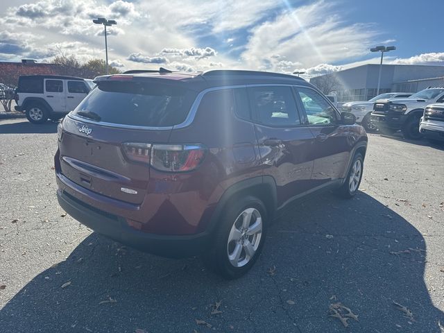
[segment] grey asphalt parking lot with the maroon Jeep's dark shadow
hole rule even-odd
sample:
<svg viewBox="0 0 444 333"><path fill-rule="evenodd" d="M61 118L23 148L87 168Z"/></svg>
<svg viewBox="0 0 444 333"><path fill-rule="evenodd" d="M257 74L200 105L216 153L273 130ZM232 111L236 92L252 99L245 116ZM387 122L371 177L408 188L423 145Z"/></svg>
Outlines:
<svg viewBox="0 0 444 333"><path fill-rule="evenodd" d="M369 135L357 197L294 205L224 281L63 216L56 125L0 121L0 332L444 332L443 147Z"/></svg>

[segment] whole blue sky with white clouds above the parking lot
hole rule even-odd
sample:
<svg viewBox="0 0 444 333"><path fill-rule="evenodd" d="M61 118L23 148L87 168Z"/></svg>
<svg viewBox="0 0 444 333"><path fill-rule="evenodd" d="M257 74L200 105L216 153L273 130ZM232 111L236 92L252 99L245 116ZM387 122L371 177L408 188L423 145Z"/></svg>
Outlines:
<svg viewBox="0 0 444 333"><path fill-rule="evenodd" d="M415 3L413 5L413 3ZM444 65L444 0L0 0L0 61L58 53L120 69L243 68L309 76L379 62ZM427 18L427 19L426 19Z"/></svg>

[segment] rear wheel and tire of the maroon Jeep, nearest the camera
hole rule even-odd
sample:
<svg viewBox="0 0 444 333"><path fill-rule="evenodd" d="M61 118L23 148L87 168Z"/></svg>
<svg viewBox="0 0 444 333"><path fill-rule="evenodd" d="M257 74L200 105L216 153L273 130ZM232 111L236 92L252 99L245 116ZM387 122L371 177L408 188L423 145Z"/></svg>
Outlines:
<svg viewBox="0 0 444 333"><path fill-rule="evenodd" d="M266 207L258 198L231 200L219 220L210 250L203 255L205 266L227 280L246 274L264 247L267 216Z"/></svg>

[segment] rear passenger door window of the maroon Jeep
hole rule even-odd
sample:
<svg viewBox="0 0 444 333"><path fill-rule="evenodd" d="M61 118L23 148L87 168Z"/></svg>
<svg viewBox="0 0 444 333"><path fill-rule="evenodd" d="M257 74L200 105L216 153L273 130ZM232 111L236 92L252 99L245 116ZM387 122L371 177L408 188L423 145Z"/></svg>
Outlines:
<svg viewBox="0 0 444 333"><path fill-rule="evenodd" d="M259 123L269 126L300 125L291 87L250 87L248 92Z"/></svg>

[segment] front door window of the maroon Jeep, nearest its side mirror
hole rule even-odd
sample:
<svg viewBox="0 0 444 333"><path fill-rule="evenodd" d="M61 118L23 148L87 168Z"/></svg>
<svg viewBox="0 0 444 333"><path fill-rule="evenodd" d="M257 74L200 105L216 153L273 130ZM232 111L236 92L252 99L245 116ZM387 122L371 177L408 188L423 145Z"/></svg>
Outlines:
<svg viewBox="0 0 444 333"><path fill-rule="evenodd" d="M298 87L298 94L311 125L328 125L337 121L334 108L313 89Z"/></svg>

